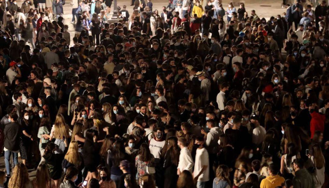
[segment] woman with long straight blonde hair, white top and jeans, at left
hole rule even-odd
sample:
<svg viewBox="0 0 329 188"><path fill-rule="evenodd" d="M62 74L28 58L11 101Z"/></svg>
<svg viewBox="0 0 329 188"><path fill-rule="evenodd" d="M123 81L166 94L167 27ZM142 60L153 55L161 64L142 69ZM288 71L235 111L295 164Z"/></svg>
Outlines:
<svg viewBox="0 0 329 188"><path fill-rule="evenodd" d="M55 153L63 153L65 150L64 139L69 138L72 135L72 131L66 125L64 116L62 114L57 114L55 123L50 131L50 139L55 138L55 144L58 146Z"/></svg>

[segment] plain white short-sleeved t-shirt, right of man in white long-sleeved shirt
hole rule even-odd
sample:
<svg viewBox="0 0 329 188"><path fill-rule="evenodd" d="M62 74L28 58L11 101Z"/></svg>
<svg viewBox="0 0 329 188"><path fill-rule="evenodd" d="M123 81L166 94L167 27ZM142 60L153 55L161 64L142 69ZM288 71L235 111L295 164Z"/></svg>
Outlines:
<svg viewBox="0 0 329 188"><path fill-rule="evenodd" d="M203 166L207 165L206 170L199 176L198 181L209 181L209 155L205 148L197 149L194 163L194 176L198 175Z"/></svg>

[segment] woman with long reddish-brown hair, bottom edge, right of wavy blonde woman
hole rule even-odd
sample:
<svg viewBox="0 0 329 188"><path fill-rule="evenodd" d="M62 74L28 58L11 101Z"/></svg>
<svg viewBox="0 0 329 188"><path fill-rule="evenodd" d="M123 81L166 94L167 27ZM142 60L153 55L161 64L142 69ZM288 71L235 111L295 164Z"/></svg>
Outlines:
<svg viewBox="0 0 329 188"><path fill-rule="evenodd" d="M49 176L47 165L39 164L36 178L32 181L34 188L56 188L55 182Z"/></svg>

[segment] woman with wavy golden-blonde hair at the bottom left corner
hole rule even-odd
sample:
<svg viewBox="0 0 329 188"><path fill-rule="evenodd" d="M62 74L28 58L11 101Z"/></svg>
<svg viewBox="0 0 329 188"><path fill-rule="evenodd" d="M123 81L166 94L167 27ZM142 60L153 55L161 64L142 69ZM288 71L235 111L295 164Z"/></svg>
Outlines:
<svg viewBox="0 0 329 188"><path fill-rule="evenodd" d="M13 176L9 179L8 187L10 188L33 188L29 179L29 173L23 163L18 163L14 170Z"/></svg>

